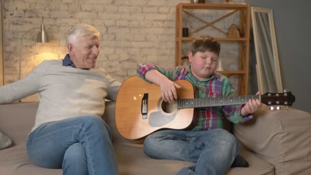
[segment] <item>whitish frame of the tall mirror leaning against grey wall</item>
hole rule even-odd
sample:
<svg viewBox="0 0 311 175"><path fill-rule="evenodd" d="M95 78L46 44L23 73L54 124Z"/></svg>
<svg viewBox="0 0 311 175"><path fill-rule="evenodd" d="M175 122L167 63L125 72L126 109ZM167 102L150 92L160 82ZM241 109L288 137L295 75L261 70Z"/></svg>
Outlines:
<svg viewBox="0 0 311 175"><path fill-rule="evenodd" d="M282 87L282 79L281 79L281 72L280 72L280 64L279 64L279 56L278 56L278 49L277 49L277 42L276 42L276 35L275 35L275 28L274 28L274 20L273 20L273 12L272 9L260 8L260 7L251 7L251 17L252 17L252 25L253 25L253 33L254 33L254 44L255 44L255 52L256 52L256 73L257 73L257 82L258 82L258 90L261 93L263 92L263 82L262 79L262 67L261 67L261 57L259 52L259 44L258 44L258 32L257 32L257 21L255 18L255 13L265 13L268 15L269 19L269 26L270 26L270 34L271 34L271 41L272 41L272 50L273 50L273 58L274 58L274 68L276 74L276 83L277 83L277 91L283 92Z"/></svg>

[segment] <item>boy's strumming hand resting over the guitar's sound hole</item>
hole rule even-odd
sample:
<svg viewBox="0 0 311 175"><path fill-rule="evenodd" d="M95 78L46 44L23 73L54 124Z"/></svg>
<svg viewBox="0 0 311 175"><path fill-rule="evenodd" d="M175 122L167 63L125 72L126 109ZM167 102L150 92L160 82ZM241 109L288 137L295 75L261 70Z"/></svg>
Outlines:
<svg viewBox="0 0 311 175"><path fill-rule="evenodd" d="M174 102L175 99L177 99L176 88L180 89L181 88L180 85L169 80L168 78L163 79L163 81L161 81L159 85L161 90L161 97L165 102L172 103Z"/></svg>

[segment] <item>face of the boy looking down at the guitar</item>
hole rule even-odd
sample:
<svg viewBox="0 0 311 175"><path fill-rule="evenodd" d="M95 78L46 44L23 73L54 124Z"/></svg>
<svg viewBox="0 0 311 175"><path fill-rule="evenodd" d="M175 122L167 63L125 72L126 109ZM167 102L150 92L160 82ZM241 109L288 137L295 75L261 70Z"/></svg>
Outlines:
<svg viewBox="0 0 311 175"><path fill-rule="evenodd" d="M196 52L194 55L189 52L190 71L198 80L204 80L211 76L218 62L218 54L211 51Z"/></svg>

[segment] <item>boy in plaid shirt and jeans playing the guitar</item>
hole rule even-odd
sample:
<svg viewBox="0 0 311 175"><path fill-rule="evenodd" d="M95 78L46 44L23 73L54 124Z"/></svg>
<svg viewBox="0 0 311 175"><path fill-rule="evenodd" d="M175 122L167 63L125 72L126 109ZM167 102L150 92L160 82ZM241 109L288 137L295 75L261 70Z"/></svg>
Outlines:
<svg viewBox="0 0 311 175"><path fill-rule="evenodd" d="M234 95L228 78L216 73L220 44L215 38L197 37L189 52L188 68L164 69L149 63L137 68L144 80L160 86L166 102L177 99L175 80L185 79L192 83L195 98ZM257 92L259 94L259 92ZM249 100L245 105L195 108L192 130L161 130L149 135L144 142L144 152L154 159L171 159L196 162L184 167L177 174L225 174L230 166L248 166L240 156L236 138L223 129L223 120L233 123L246 122L261 107L259 100Z"/></svg>

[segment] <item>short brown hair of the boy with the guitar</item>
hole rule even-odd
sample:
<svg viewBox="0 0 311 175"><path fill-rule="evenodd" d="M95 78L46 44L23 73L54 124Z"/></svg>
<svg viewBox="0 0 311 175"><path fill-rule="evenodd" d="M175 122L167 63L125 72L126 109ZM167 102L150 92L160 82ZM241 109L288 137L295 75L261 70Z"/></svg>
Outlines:
<svg viewBox="0 0 311 175"><path fill-rule="evenodd" d="M198 36L192 41L191 50L192 55L196 52L210 51L219 56L220 43L211 36Z"/></svg>

